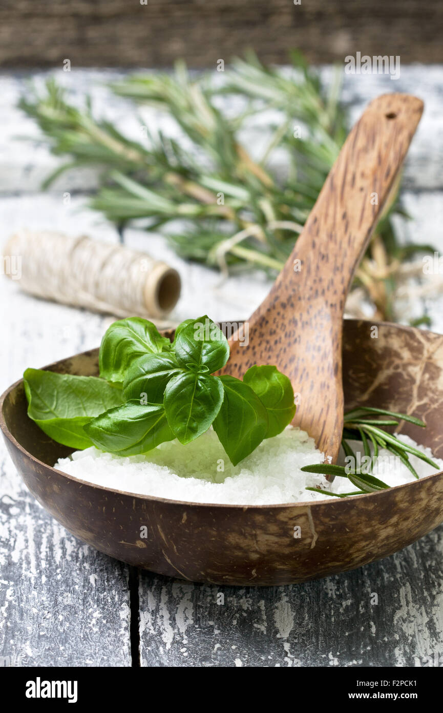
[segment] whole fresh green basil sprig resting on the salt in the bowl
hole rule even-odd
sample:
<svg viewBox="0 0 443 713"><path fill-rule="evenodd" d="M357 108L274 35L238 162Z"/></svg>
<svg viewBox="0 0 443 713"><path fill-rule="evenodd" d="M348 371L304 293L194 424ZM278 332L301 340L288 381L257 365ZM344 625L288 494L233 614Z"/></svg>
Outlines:
<svg viewBox="0 0 443 713"><path fill-rule="evenodd" d="M182 322L172 343L146 319L120 319L103 337L100 378L25 372L28 415L59 443L120 456L172 438L186 445L213 425L236 465L283 431L296 406L275 366L252 366L243 381L215 376L228 358L226 337L207 315Z"/></svg>

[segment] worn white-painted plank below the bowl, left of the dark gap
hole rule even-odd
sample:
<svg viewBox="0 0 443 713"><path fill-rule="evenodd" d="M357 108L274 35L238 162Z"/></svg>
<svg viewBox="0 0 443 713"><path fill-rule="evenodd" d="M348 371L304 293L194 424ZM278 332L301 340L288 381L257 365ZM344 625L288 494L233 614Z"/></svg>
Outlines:
<svg viewBox="0 0 443 713"><path fill-rule="evenodd" d="M1 665L130 666L127 566L53 520L3 443L0 472Z"/></svg>

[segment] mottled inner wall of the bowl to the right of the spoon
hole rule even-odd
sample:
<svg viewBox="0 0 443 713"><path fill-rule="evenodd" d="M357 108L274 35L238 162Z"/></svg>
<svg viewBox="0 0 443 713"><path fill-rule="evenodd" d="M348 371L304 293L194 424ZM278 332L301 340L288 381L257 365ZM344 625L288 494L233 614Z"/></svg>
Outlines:
<svg viewBox="0 0 443 713"><path fill-rule="evenodd" d="M402 421L397 431L443 458L441 334L345 319L343 390L345 410L376 406L422 419L424 429Z"/></svg>

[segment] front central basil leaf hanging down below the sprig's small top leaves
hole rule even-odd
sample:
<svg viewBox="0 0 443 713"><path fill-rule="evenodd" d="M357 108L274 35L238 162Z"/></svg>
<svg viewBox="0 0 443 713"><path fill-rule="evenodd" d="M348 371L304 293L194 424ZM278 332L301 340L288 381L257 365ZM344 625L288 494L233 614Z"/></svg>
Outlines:
<svg viewBox="0 0 443 713"><path fill-rule="evenodd" d="M188 371L174 376L165 389L167 422L180 443L204 434L222 406L223 386L217 376Z"/></svg>

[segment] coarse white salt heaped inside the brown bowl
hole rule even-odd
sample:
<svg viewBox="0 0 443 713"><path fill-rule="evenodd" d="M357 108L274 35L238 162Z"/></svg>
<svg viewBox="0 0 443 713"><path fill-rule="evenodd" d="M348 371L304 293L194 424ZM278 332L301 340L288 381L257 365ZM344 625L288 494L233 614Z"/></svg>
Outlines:
<svg viewBox="0 0 443 713"><path fill-rule="evenodd" d="M408 436L400 438L432 457L429 448L417 446ZM361 447L357 442L351 445L354 449ZM380 450L379 456L390 460L379 458L372 468L373 475L390 486L414 480L412 473L399 458L393 458L392 453ZM307 486L318 486L333 493L355 491L348 478L335 478L333 483L328 483L325 476L301 471L303 466L322 461L323 453L317 450L313 438L305 431L288 426L278 436L262 441L237 466L231 464L211 428L187 446L169 441L144 456L113 456L98 448L86 448L75 451L69 458L60 458L54 467L106 488L194 503L274 505L333 498L307 491ZM416 456L410 456L410 461L420 477L436 472ZM434 461L443 470L443 461L437 458Z"/></svg>

